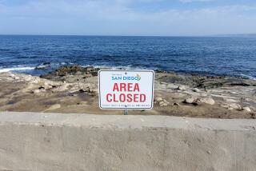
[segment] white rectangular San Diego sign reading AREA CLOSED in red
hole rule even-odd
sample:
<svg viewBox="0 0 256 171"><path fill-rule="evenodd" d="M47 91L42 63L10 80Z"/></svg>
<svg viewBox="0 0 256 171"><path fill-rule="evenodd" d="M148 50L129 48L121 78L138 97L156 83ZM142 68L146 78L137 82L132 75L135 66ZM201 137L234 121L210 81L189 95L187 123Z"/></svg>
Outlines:
<svg viewBox="0 0 256 171"><path fill-rule="evenodd" d="M99 70L99 107L101 109L152 109L153 70Z"/></svg>

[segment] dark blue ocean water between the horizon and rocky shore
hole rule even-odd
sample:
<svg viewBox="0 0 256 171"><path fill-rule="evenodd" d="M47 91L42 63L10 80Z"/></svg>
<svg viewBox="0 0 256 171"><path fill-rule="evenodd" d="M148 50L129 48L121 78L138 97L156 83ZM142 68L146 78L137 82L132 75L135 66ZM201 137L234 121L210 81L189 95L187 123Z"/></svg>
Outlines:
<svg viewBox="0 0 256 171"><path fill-rule="evenodd" d="M74 64L255 79L256 38L0 35L0 72Z"/></svg>

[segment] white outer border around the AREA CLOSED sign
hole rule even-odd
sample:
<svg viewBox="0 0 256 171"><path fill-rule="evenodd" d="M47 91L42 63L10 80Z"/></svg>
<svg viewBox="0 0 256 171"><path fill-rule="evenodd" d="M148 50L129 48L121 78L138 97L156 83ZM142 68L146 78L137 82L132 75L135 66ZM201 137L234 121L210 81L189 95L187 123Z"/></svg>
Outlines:
<svg viewBox="0 0 256 171"><path fill-rule="evenodd" d="M100 72L104 71L122 71L122 72L151 72L153 74L152 80L152 98L150 108L102 108L101 106L101 89L100 89ZM98 106L100 109L153 109L154 107L154 70L98 70Z"/></svg>

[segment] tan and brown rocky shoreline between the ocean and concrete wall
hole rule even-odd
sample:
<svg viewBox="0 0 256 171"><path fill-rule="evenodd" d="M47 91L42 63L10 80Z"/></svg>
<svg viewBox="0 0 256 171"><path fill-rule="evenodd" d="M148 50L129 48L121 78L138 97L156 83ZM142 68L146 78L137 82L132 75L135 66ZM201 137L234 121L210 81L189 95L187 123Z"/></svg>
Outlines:
<svg viewBox="0 0 256 171"><path fill-rule="evenodd" d="M0 111L109 114L98 108L98 70L62 66L40 77L2 73ZM154 87L154 109L131 110L130 114L255 118L254 80L156 70Z"/></svg>

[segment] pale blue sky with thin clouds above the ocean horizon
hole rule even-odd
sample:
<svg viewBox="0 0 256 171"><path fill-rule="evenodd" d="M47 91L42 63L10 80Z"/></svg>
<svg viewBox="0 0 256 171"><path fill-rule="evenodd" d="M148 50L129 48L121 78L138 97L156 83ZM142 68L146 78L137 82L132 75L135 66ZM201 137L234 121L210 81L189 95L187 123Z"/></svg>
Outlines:
<svg viewBox="0 0 256 171"><path fill-rule="evenodd" d="M0 0L0 34L255 34L255 0Z"/></svg>

